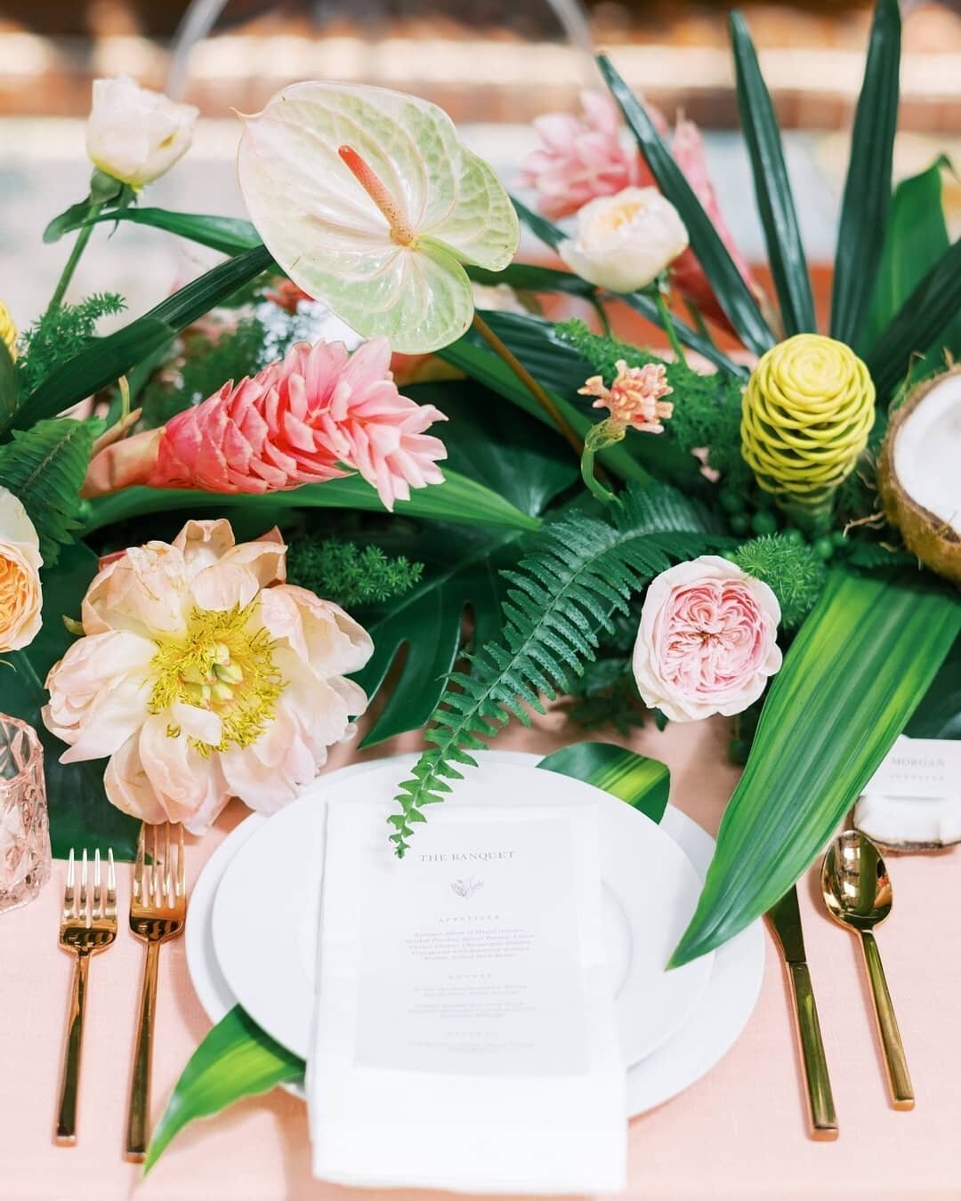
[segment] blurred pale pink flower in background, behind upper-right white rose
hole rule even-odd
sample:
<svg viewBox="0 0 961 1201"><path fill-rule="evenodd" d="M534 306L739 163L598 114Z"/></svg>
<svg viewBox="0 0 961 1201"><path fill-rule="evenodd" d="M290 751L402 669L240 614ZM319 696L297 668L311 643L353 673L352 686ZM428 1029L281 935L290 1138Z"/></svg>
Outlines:
<svg viewBox="0 0 961 1201"><path fill-rule="evenodd" d="M633 145L625 144L617 106L599 91L583 91L581 116L549 113L533 123L543 147L521 163L521 183L539 193L544 216L571 216L597 196L651 183Z"/></svg>

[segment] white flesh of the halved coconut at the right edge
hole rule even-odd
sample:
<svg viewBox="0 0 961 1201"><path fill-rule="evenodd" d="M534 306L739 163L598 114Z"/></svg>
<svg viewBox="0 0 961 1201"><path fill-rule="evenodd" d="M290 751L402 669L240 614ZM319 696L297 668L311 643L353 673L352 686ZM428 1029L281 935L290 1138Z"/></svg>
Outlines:
<svg viewBox="0 0 961 1201"><path fill-rule="evenodd" d="M961 536L961 372L944 377L907 414L894 473L921 508Z"/></svg>

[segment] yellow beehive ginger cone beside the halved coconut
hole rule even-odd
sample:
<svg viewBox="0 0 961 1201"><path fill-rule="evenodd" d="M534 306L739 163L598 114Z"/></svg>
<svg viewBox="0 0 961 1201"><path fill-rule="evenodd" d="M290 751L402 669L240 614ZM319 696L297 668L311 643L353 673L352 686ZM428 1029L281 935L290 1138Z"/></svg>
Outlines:
<svg viewBox="0 0 961 1201"><path fill-rule="evenodd" d="M741 450L783 508L819 510L854 471L873 422L875 384L854 351L823 334L796 334L751 375Z"/></svg>

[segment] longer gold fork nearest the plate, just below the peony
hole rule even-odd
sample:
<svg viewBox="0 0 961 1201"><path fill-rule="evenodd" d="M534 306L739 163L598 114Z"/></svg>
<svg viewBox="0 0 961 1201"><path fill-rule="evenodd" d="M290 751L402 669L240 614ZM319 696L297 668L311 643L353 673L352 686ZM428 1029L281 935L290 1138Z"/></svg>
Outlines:
<svg viewBox="0 0 961 1201"><path fill-rule="evenodd" d="M133 891L130 897L130 928L147 943L147 958L141 986L141 1022L133 1051L133 1076L127 1106L126 1158L135 1164L147 1154L147 1122L150 1112L150 1068L154 1052L154 1016L157 998L160 944L175 938L184 928L187 890L184 876L184 827L179 826L177 877L171 876L171 826L168 821L153 830L153 864L145 864L147 824L137 839L133 865ZM162 832L162 839L161 839Z"/></svg>

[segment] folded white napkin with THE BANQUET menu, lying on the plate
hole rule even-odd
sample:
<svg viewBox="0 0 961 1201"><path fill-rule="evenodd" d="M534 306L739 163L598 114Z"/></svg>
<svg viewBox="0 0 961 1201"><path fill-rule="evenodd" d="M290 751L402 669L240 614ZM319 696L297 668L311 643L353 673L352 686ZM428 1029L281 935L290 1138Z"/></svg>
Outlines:
<svg viewBox="0 0 961 1201"><path fill-rule="evenodd" d="M625 1066L590 806L329 808L308 1100L315 1175L460 1191L625 1185Z"/></svg>

